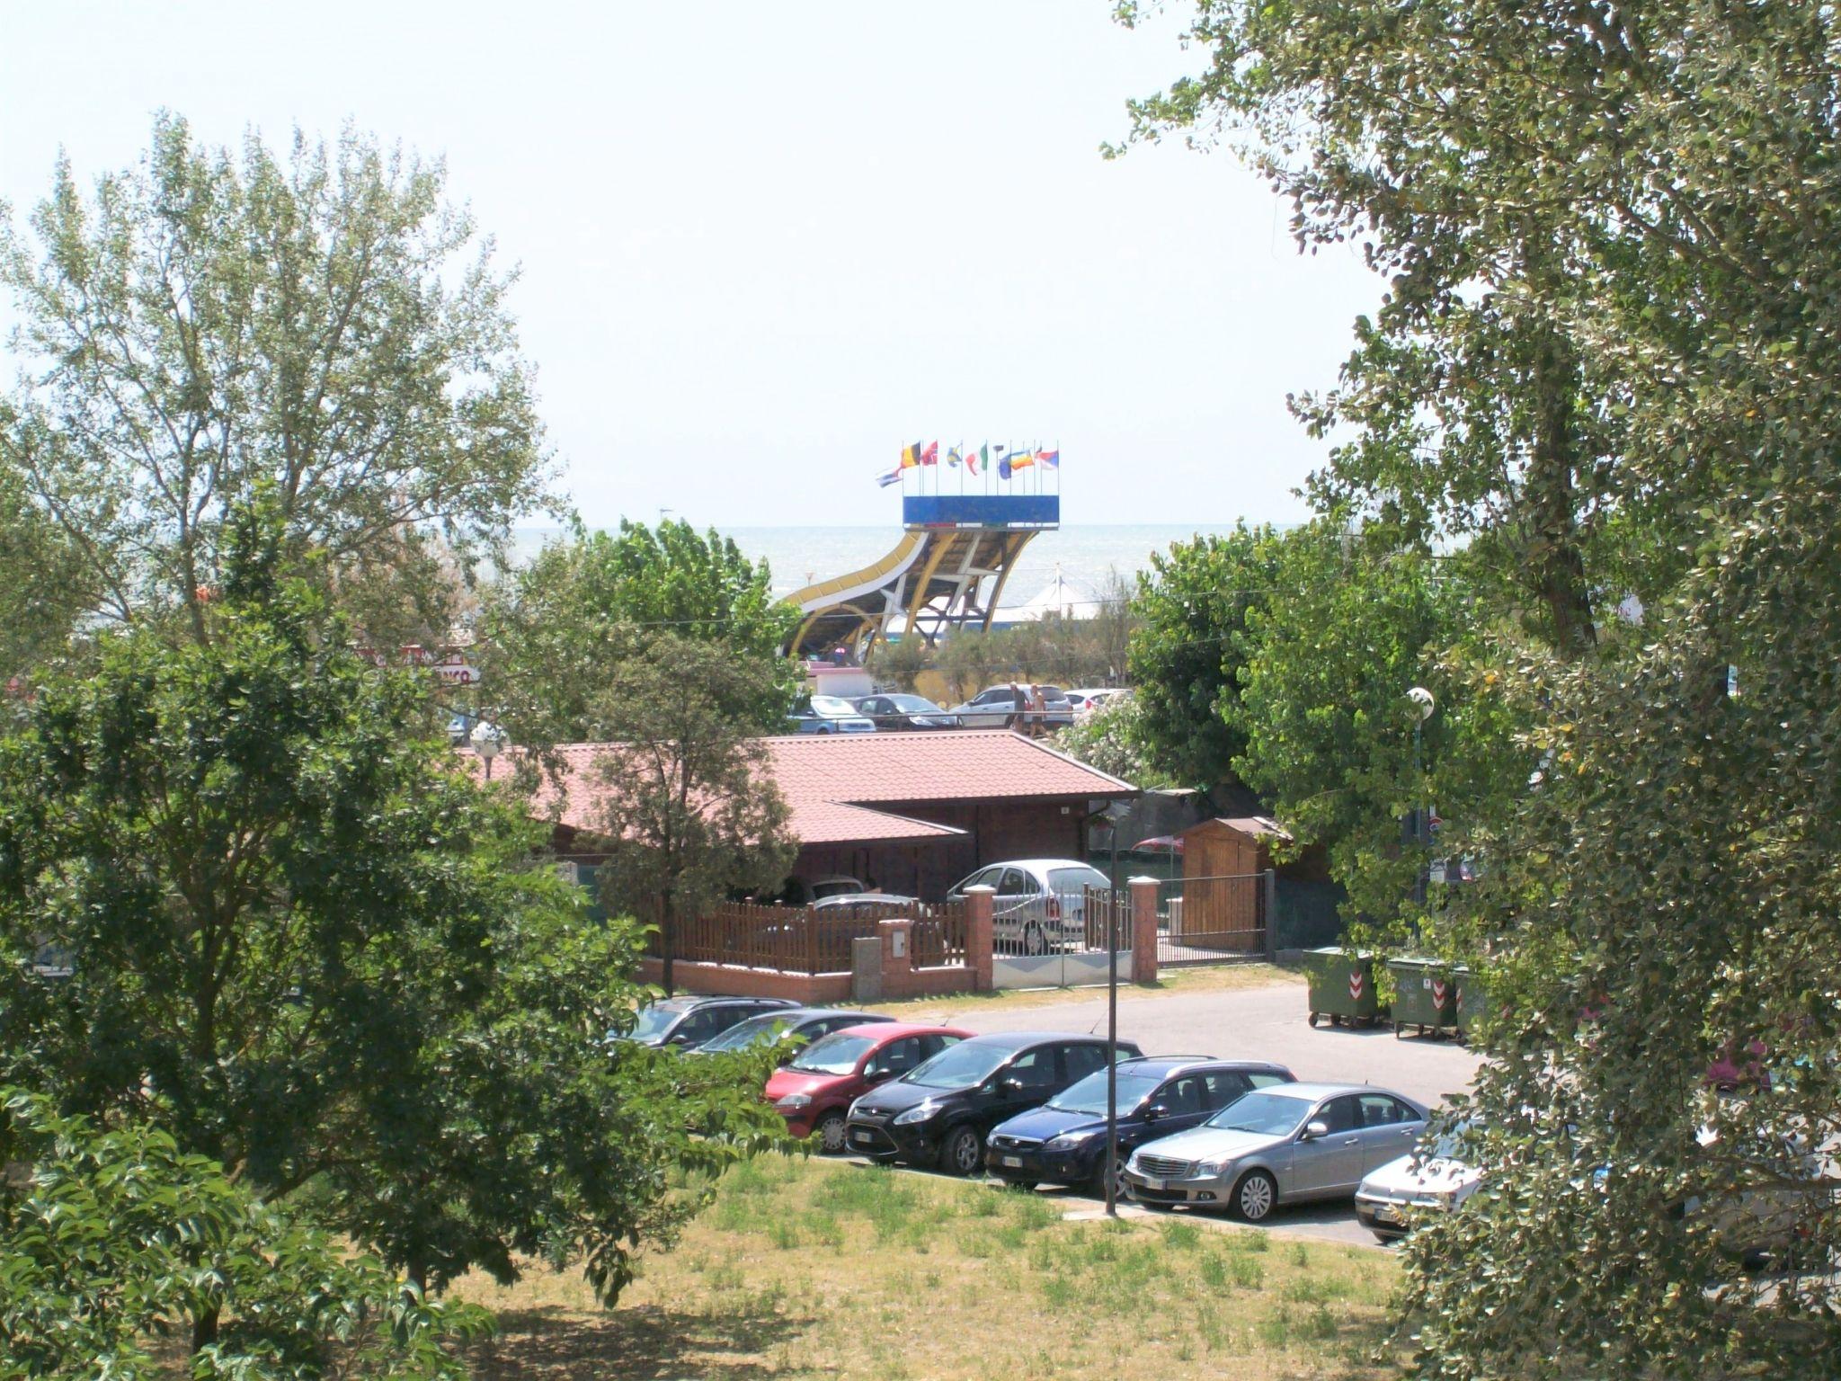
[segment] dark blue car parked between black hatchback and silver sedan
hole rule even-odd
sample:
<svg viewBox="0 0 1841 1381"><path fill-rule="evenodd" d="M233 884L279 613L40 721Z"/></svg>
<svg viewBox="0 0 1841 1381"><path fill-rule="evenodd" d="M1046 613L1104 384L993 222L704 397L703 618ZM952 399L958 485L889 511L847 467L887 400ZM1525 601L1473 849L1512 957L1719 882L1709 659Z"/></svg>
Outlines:
<svg viewBox="0 0 1841 1381"><path fill-rule="evenodd" d="M1119 1061L1119 1160L1116 1197L1125 1197L1125 1160L1147 1140L1187 1131L1241 1094L1292 1083L1283 1064L1156 1055ZM1035 1112L998 1123L985 1167L1020 1186L1079 1184L1106 1193L1106 1072L1086 1075Z"/></svg>

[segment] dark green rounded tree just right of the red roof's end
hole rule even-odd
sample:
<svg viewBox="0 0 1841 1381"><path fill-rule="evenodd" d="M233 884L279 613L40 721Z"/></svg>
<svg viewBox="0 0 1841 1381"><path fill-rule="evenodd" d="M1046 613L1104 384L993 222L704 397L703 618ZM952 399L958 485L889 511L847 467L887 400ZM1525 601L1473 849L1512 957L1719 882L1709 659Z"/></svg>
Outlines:
<svg viewBox="0 0 1841 1381"><path fill-rule="evenodd" d="M1248 613L1278 580L1278 532L1237 527L1151 554L1132 600L1130 685L1151 762L1176 781L1224 783L1246 737L1232 718Z"/></svg>

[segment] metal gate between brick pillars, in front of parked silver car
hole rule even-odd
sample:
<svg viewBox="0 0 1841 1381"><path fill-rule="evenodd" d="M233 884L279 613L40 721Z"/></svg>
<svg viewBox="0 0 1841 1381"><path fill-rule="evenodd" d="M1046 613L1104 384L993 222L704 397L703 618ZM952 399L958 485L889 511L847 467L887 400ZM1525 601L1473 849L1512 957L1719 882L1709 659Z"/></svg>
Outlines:
<svg viewBox="0 0 1841 1381"><path fill-rule="evenodd" d="M1018 884L1027 886L1027 878ZM994 987L1106 981L1108 926L1117 926L1119 981L1132 978L1130 897L1108 888L1013 891L990 899Z"/></svg>

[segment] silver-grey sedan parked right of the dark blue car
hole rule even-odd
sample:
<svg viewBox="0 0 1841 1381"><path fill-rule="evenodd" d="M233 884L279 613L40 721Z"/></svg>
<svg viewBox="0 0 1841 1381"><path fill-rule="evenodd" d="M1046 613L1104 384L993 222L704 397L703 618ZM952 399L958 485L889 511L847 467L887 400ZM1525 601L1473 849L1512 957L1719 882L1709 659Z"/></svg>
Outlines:
<svg viewBox="0 0 1841 1381"><path fill-rule="evenodd" d="M1418 1143L1425 1120L1425 1107L1386 1088L1276 1085L1140 1145L1125 1188L1141 1204L1224 1206L1261 1223L1279 1204L1348 1199Z"/></svg>

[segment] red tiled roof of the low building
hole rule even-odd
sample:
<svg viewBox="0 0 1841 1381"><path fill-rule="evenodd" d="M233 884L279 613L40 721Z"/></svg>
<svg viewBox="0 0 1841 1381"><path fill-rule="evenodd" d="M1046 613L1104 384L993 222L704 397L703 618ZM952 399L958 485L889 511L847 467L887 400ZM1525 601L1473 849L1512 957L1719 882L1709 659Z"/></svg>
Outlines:
<svg viewBox="0 0 1841 1381"><path fill-rule="evenodd" d="M567 801L558 801L552 790L543 790L532 812L573 829L598 829L596 803L608 784L595 760L611 748L611 744L560 746L556 757L563 764ZM919 805L1138 794L1130 783L1108 777L1009 729L790 735L768 738L764 748L773 781L792 810L792 830L801 843L935 840L963 832L865 808L878 801Z"/></svg>

